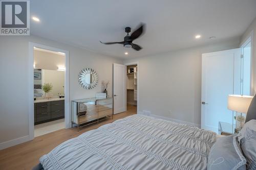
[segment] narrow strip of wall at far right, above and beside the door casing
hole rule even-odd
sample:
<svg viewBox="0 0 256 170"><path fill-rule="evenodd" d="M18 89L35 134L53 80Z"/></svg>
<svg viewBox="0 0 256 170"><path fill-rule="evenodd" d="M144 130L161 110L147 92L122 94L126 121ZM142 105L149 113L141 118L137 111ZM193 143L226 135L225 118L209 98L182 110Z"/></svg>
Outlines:
<svg viewBox="0 0 256 170"><path fill-rule="evenodd" d="M252 36L252 93L255 95L256 94L256 17L254 18L254 20L251 22L250 26L247 28L247 30L245 31L245 33L243 34L243 36L241 37L240 40L240 45L242 45L244 43L244 41L246 41L248 39L248 37L251 35L251 33L253 34Z"/></svg>

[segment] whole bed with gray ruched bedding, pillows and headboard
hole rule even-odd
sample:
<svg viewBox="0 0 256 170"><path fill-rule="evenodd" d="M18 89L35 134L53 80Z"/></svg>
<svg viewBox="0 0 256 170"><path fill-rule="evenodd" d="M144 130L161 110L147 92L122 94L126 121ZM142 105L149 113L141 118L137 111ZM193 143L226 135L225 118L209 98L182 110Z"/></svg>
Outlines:
<svg viewBox="0 0 256 170"><path fill-rule="evenodd" d="M255 146L254 96L236 135L132 115L63 142L33 169L255 170Z"/></svg>

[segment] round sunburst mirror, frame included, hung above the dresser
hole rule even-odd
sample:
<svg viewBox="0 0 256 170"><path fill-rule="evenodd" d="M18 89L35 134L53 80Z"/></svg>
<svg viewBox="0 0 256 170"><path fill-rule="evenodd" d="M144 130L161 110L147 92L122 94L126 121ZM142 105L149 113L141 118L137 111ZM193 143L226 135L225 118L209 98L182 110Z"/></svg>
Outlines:
<svg viewBox="0 0 256 170"><path fill-rule="evenodd" d="M83 88L94 88L98 84L97 71L92 68L84 68L79 74L79 83Z"/></svg>

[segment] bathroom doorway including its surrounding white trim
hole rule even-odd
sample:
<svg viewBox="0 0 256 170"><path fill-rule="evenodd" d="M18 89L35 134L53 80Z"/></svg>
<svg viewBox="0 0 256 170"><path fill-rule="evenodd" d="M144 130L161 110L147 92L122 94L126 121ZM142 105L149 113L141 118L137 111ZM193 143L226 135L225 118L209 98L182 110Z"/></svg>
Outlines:
<svg viewBox="0 0 256 170"><path fill-rule="evenodd" d="M68 51L30 43L30 139L70 128ZM32 72L32 69L30 69ZM32 91L33 90L33 91ZM33 101L33 102L32 102Z"/></svg>

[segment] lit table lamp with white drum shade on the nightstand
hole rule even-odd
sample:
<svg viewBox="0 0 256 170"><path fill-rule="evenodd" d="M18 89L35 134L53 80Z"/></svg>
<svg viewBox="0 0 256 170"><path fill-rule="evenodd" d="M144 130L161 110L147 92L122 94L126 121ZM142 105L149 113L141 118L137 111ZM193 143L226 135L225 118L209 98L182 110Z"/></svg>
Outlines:
<svg viewBox="0 0 256 170"><path fill-rule="evenodd" d="M253 96L250 95L228 95L227 108L232 111L236 111L236 129L239 132L244 126L245 116L242 113L247 113L249 105Z"/></svg>

